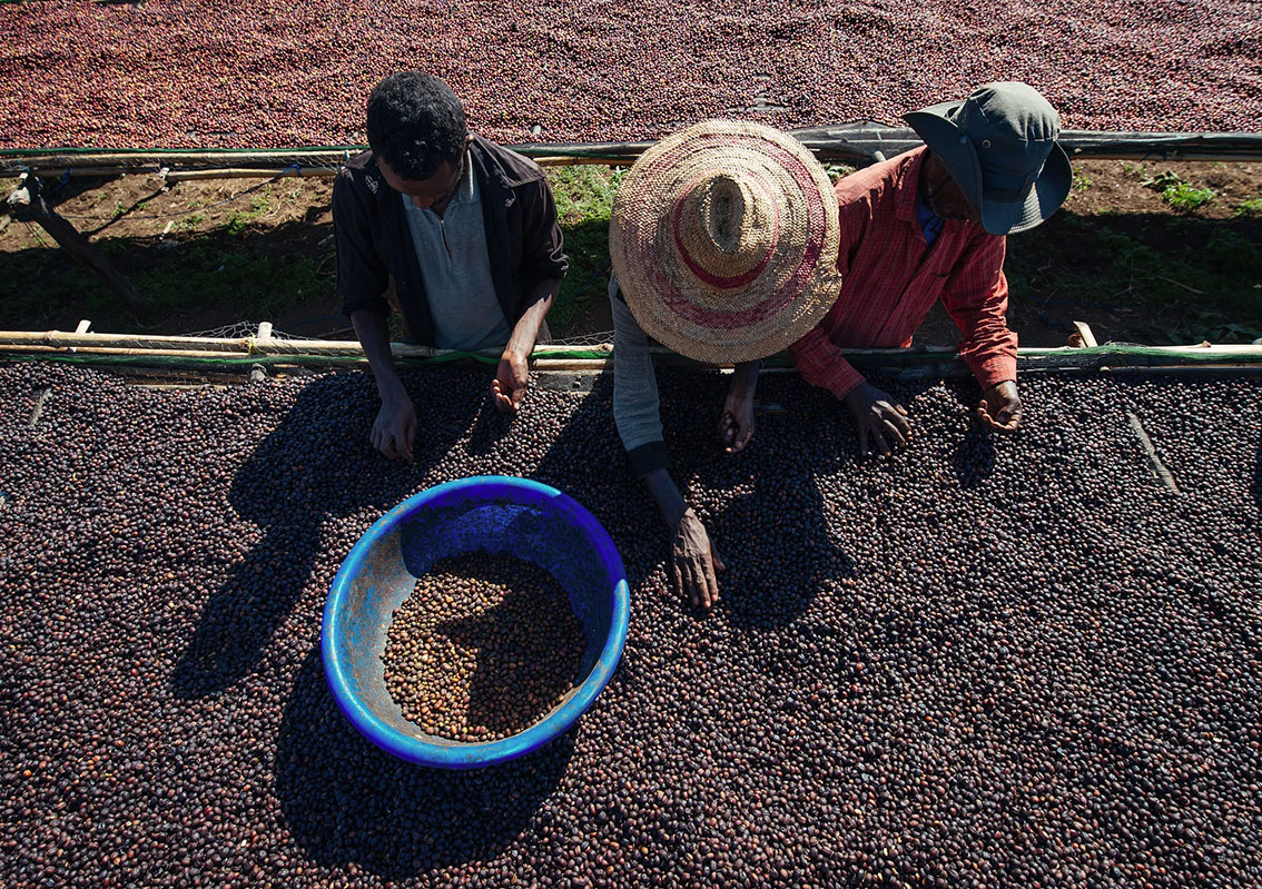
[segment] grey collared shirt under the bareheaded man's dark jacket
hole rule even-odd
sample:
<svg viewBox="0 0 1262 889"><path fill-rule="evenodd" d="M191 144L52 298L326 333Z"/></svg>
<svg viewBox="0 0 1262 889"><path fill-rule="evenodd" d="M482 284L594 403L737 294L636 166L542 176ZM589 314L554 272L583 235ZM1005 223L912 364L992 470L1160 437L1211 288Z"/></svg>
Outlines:
<svg viewBox="0 0 1262 889"><path fill-rule="evenodd" d="M434 342L440 349L497 349L512 333L495 295L482 198L466 150L459 188L442 216L405 194L408 228L420 261Z"/></svg>

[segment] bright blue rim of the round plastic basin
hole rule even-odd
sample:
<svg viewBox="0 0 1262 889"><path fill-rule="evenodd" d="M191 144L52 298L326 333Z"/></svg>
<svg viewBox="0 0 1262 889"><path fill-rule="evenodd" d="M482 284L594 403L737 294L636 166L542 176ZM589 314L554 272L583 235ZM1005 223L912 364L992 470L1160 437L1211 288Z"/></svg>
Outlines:
<svg viewBox="0 0 1262 889"><path fill-rule="evenodd" d="M611 591L613 608L610 632L606 637L604 647L601 649L601 656L583 681L583 685L579 686L578 691L563 706L540 723L531 725L525 731L497 741L478 744L461 741L432 744L422 741L379 719L351 691L350 668L338 656L336 617L341 613L343 601L348 594L352 566L358 565L369 549L381 537L391 533L405 516L424 507L429 501L451 494L453 491L459 491L461 488L477 489L492 484L501 489L520 488L541 494L560 506L563 512L569 513L569 517L593 543L599 557L608 567L610 574L617 579ZM328 599L324 601L324 615L321 627L321 657L324 662L324 677L329 691L333 694L333 699L337 701L338 709L341 709L360 734L382 750L411 763L437 768L466 769L496 765L533 753L555 738L559 738L596 701L597 695L608 685L622 657L631 610L630 598L622 556L618 554L617 547L613 546L613 540L610 537L608 531L604 530L604 526L582 503L569 494L541 482L514 475L472 475L443 482L413 494L386 512L372 523L372 527L360 537L355 546L351 547L346 559L342 560L342 565L338 567L337 575L334 575L333 583L329 585Z"/></svg>

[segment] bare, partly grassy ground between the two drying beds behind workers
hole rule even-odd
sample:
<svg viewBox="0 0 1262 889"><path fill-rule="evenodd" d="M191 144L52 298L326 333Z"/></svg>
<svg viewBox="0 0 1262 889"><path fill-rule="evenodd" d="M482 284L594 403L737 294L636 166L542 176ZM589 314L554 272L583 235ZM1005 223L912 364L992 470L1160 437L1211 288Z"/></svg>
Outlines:
<svg viewBox="0 0 1262 889"><path fill-rule="evenodd" d="M1088 322L1100 342L1262 337L1262 165L1084 161L1075 173L1063 211L1008 240L1008 322L1023 346L1063 344L1073 320ZM570 187L560 180L569 174L550 175L554 187ZM607 177L584 175L597 187ZM1213 195L1179 209L1162 195L1171 183L1193 203ZM329 180L165 187L130 175L54 188L57 211L102 246L156 311L129 317L38 226L13 222L0 231L0 327L66 330L88 318L93 330L194 333L270 320L298 335L348 335L334 295ZM554 309L554 334L608 330L607 211L579 208L563 224L577 261ZM917 339L955 338L935 310Z"/></svg>

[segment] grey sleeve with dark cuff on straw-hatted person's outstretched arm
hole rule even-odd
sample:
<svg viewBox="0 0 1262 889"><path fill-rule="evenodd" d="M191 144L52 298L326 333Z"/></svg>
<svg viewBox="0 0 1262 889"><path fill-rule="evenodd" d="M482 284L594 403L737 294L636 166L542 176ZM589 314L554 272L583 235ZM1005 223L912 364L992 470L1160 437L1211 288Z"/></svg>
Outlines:
<svg viewBox="0 0 1262 889"><path fill-rule="evenodd" d="M613 309L613 421L631 469L644 478L670 465L661 436L658 377L649 354L649 337L631 314L612 275L610 305Z"/></svg>

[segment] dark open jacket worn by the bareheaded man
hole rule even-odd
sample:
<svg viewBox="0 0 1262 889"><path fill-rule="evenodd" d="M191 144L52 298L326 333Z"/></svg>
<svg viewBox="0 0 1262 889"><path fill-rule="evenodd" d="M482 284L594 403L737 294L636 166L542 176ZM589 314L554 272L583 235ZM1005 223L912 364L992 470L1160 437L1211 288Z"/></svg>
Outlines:
<svg viewBox="0 0 1262 889"><path fill-rule="evenodd" d="M469 160L482 199L495 295L509 324L516 324L530 308L531 285L562 279L569 267L557 204L533 160L481 136L469 144ZM352 158L337 174L333 232L342 311L389 314L385 293L394 279L410 338L433 346L434 319L403 200L386 184L371 151Z"/></svg>

